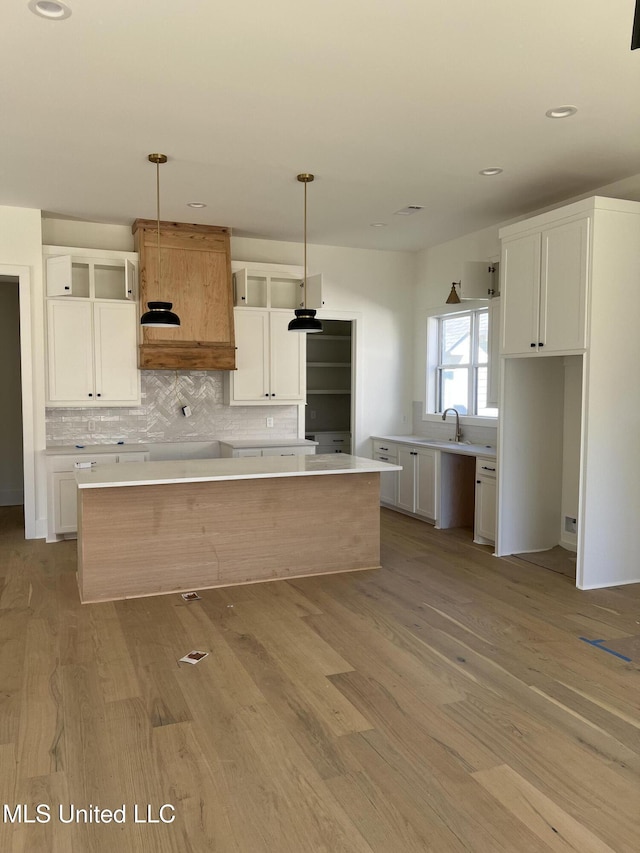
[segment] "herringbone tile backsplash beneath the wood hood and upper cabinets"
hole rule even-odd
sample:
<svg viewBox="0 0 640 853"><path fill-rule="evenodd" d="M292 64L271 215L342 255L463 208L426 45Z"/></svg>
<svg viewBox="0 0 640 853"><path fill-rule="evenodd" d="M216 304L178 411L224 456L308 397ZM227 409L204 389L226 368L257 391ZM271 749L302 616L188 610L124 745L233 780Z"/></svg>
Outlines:
<svg viewBox="0 0 640 853"><path fill-rule="evenodd" d="M131 409L47 409L47 445L295 438L297 406L225 406L219 371L142 372L142 405ZM185 418L182 406L191 408ZM266 418L273 418L267 429ZM95 431L89 432L89 421Z"/></svg>

